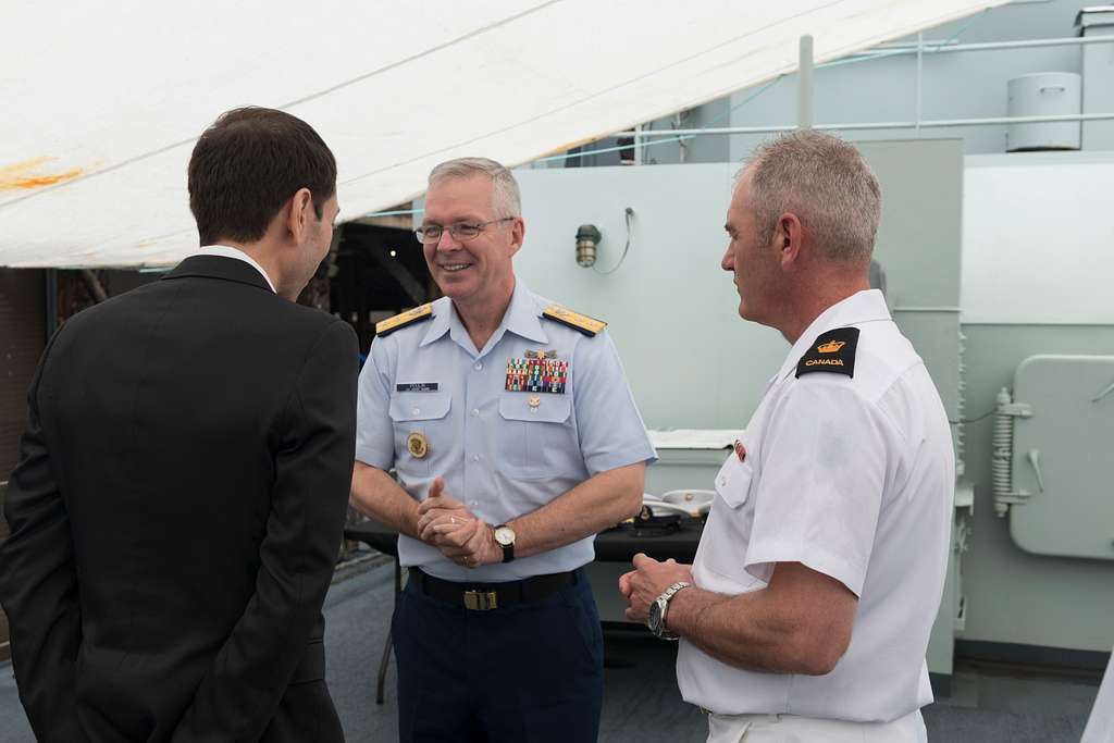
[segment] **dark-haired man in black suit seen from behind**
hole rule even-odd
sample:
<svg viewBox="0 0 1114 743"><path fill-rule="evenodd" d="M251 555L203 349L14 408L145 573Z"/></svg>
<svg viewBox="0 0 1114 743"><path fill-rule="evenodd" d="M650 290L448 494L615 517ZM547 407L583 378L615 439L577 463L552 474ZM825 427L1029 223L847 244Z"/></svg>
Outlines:
<svg viewBox="0 0 1114 743"><path fill-rule="evenodd" d="M11 476L0 600L40 741L342 741L321 606L354 449L351 327L294 303L336 165L229 111L189 162L201 255L70 319Z"/></svg>

